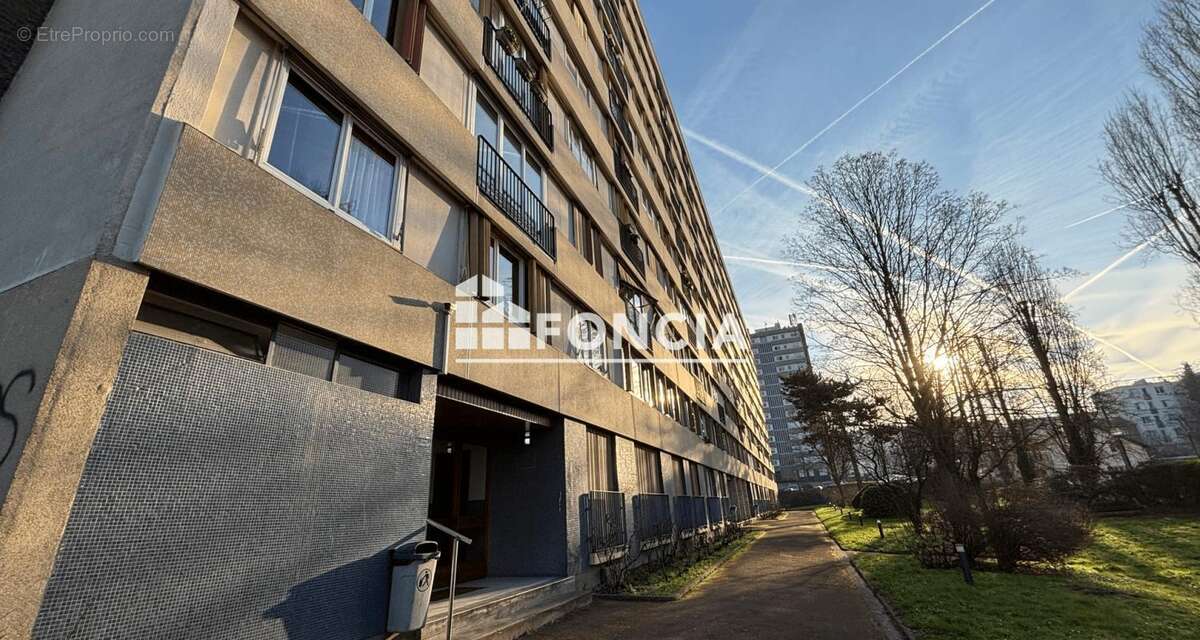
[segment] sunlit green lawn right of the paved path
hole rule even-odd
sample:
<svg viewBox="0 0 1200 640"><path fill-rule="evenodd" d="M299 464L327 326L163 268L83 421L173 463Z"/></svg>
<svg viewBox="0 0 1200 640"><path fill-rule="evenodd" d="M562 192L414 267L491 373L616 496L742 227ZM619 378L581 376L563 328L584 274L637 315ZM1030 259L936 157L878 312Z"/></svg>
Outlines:
<svg viewBox="0 0 1200 640"><path fill-rule="evenodd" d="M854 562L923 640L1200 639L1200 518L1100 520L1066 569L977 572L974 587L911 556Z"/></svg>

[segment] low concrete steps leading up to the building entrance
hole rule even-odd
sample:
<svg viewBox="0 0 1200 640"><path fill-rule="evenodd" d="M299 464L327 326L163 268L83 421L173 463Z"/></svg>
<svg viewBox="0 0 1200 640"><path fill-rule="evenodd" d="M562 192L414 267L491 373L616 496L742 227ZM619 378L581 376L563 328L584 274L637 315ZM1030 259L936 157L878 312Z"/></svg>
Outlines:
<svg viewBox="0 0 1200 640"><path fill-rule="evenodd" d="M492 591L493 593L488 593ZM454 640L510 640L587 605L590 593L576 588L575 578L503 585L460 594L455 600ZM430 611L421 639L444 639L446 616Z"/></svg>

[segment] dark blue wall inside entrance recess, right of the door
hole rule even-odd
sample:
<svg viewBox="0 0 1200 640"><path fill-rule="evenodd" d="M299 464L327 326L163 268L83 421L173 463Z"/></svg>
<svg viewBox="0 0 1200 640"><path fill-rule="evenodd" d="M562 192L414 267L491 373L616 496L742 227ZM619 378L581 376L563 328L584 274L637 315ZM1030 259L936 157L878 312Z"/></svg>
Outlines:
<svg viewBox="0 0 1200 640"><path fill-rule="evenodd" d="M563 430L535 430L529 445L490 448L487 572L566 575Z"/></svg>

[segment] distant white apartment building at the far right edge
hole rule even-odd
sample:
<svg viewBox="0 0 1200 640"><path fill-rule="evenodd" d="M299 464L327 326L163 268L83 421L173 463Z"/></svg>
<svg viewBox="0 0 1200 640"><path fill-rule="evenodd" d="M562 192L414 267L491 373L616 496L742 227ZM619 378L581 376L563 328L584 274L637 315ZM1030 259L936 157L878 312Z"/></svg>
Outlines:
<svg viewBox="0 0 1200 640"><path fill-rule="evenodd" d="M1176 381L1168 378L1139 379L1103 391L1118 415L1136 429L1138 438L1154 457L1195 455L1183 412Z"/></svg>

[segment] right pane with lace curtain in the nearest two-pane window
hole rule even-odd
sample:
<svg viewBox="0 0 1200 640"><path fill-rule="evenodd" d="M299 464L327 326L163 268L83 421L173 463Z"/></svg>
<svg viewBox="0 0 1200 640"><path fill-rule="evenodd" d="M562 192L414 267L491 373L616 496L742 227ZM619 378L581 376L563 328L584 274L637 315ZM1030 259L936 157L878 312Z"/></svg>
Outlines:
<svg viewBox="0 0 1200 640"><path fill-rule="evenodd" d="M338 207L368 229L391 239L389 222L395 186L395 161L389 160L373 140L355 132Z"/></svg>

